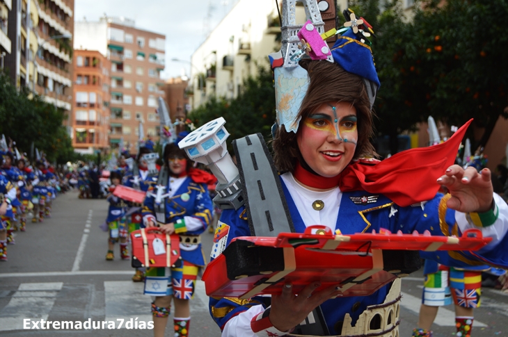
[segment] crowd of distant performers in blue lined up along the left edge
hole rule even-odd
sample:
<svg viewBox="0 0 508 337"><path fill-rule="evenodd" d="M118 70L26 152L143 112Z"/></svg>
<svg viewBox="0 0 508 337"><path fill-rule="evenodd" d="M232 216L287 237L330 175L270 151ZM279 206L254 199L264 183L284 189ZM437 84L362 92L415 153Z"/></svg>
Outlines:
<svg viewBox="0 0 508 337"><path fill-rule="evenodd" d="M51 217L51 204L67 186L55 174L43 153L33 165L2 135L0 140L0 261L7 261L7 246L14 245L13 232L26 231L26 223Z"/></svg>

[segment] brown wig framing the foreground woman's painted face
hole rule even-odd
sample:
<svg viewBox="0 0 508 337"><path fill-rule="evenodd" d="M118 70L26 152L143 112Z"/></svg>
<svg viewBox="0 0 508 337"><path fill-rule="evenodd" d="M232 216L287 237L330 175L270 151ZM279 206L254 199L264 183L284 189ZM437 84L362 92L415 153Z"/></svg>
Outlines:
<svg viewBox="0 0 508 337"><path fill-rule="evenodd" d="M355 74L346 72L336 63L320 60L302 60L301 67L309 74L309 87L298 116L305 120L310 113L326 102L346 101L356 108L358 118L358 144L354 158L374 156L374 147L370 138L374 134L373 113L370 109L370 101L365 90L363 79ZM301 129L299 129L300 132ZM296 161L303 161L298 144L296 133L287 132L283 125L279 126L273 138L273 161L280 172L293 172Z"/></svg>

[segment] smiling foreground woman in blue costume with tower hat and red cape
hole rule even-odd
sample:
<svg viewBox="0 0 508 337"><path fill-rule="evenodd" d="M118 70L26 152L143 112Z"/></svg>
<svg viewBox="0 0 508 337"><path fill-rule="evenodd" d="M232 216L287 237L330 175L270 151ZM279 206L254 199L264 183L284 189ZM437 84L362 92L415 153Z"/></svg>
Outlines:
<svg viewBox="0 0 508 337"><path fill-rule="evenodd" d="M479 229L493 240L478 252L421 254L459 268L485 263L507 268L508 206L493 194L490 170L477 172L473 167L464 170L451 165L457 154L456 140L461 140L465 129L424 151L409 150L382 162L362 159L374 155L370 144L372 105L380 85L367 40L372 28L365 19L347 11L346 28L328 49L323 40L319 42L324 23L316 2L304 2L312 21L309 17L303 27L296 26L294 17L287 17L295 1L283 3L283 53L271 55L277 101L272 143L275 167L259 168L260 159L251 161L251 151L242 147L246 154L242 156L240 148L237 151L239 172L244 172L245 179L249 179L245 172L255 174L255 170L263 170L267 178L273 176L275 193L268 192L271 186L263 183L262 175L252 186L259 190L261 199L269 201L268 206L274 204L271 200L282 199L280 204L285 205L291 220L288 226L298 233L313 224L342 234L386 229L460 236L466 229ZM224 137L221 132L216 139ZM236 144L246 147L254 144L254 138L257 136L250 135ZM457 147L449 149L452 145ZM188 154L201 151L192 146ZM448 158L452 159L450 164ZM242 179L242 188L247 183L251 182ZM436 195L439 185L450 193ZM249 222L249 217L260 213L256 200L244 198L243 202L249 208L223 211L212 258L221 254L232 238L251 236L250 226L257 226ZM251 212L246 212L248 209ZM271 210L272 214L277 211ZM286 282L282 293L271 297L210 297L210 313L222 336L399 335L400 279L364 297L340 297L339 286L317 290L320 283L315 281L295 293L292 283ZM311 315L317 311L319 315Z"/></svg>

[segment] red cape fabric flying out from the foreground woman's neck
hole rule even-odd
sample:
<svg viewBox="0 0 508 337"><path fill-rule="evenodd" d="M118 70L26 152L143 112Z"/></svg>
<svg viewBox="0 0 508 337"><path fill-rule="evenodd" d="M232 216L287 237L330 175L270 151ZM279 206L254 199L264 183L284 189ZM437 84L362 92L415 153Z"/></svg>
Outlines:
<svg viewBox="0 0 508 337"><path fill-rule="evenodd" d="M436 179L454 164L464 133L472 121L441 144L408 149L375 165L367 165L364 161L351 163L340 174L340 190L379 193L403 207L432 199L440 188Z"/></svg>

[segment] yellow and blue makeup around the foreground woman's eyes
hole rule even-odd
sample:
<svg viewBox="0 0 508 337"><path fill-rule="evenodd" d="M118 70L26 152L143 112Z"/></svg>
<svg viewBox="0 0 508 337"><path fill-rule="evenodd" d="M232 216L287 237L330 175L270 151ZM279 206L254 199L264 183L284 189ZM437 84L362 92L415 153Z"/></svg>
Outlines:
<svg viewBox="0 0 508 337"><path fill-rule="evenodd" d="M356 133L356 115L347 115L344 117L338 117L335 106L330 106L333 111L332 117L326 113L313 113L305 119L305 126L310 129L325 131L331 133L338 140L343 142L351 142L356 145L357 133Z"/></svg>

